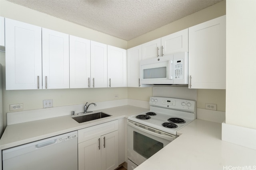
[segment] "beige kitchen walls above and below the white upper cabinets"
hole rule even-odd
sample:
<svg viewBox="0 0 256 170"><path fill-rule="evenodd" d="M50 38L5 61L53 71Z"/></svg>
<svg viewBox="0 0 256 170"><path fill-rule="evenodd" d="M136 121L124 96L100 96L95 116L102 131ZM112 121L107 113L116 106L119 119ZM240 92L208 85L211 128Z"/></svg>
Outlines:
<svg viewBox="0 0 256 170"><path fill-rule="evenodd" d="M46 27L56 31L68 33L78 37L83 37L93 41L106 43L116 47L133 47L141 43L150 41L179 31L186 27L216 18L226 14L226 3L220 2L204 10L196 12L190 16L182 18L174 23L156 29L150 33L142 35L130 41L124 41L70 23L68 21L54 18L47 14L36 12L29 8L12 4L6 0L0 0L0 16L14 20L31 23L41 27ZM0 52L0 63L4 66L5 53ZM4 70L4 69L3 69ZM3 72L5 74L5 72ZM95 88L95 89L58 89L58 90L5 90L5 77L3 77L3 125L6 126L6 113L10 104L24 105L23 110L40 109L43 107L42 100L53 99L53 106L66 106L72 104L83 104L85 102L100 102L114 100L114 94L119 94L119 99L136 99L148 101L152 96L152 88ZM198 107L204 108L204 103L217 104L217 109L225 111L225 90L198 90Z"/></svg>

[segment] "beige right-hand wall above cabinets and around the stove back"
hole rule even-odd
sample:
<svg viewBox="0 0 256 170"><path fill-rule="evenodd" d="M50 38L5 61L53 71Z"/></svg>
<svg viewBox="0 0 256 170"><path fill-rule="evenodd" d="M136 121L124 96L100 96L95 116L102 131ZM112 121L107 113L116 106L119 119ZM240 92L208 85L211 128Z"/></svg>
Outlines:
<svg viewBox="0 0 256 170"><path fill-rule="evenodd" d="M146 43L148 41L163 37L165 35L169 35L171 33L180 31L182 29L191 27L198 23L202 23L204 21L208 21L219 16L223 16L226 14L226 1L219 2L213 6L205 8L204 10L198 11L194 14L186 16L178 21L174 21L160 27L154 31L136 37L130 41L128 41L128 48L135 47L136 45L140 45L142 43ZM134 91L135 89L128 89L128 97L129 98L143 98L139 90ZM152 95L152 94L151 94ZM148 96L150 96L150 90L148 90ZM197 91L197 107L205 108L206 103L217 104L218 111L226 110L225 98L226 90L207 90L207 89L198 89Z"/></svg>

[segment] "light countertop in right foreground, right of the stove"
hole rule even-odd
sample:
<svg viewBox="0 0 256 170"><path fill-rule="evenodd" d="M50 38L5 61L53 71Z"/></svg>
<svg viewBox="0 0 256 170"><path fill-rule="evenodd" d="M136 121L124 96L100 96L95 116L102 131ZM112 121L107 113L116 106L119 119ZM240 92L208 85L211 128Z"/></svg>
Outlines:
<svg viewBox="0 0 256 170"><path fill-rule="evenodd" d="M179 135L135 170L256 170L256 150L222 141L221 123L196 119Z"/></svg>

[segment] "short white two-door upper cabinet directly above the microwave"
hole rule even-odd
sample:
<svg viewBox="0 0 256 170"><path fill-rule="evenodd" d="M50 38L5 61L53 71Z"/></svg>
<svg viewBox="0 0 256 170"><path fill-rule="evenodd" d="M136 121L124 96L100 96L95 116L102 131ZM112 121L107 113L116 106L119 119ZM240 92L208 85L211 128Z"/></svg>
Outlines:
<svg viewBox="0 0 256 170"><path fill-rule="evenodd" d="M188 52L188 29L142 44L142 60Z"/></svg>

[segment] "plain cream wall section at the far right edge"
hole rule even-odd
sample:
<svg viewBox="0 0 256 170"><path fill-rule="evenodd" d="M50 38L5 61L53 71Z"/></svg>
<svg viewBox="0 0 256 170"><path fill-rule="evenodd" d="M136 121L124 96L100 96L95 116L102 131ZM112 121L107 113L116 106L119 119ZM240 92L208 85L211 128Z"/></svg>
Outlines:
<svg viewBox="0 0 256 170"><path fill-rule="evenodd" d="M226 3L226 123L256 129L256 1Z"/></svg>

